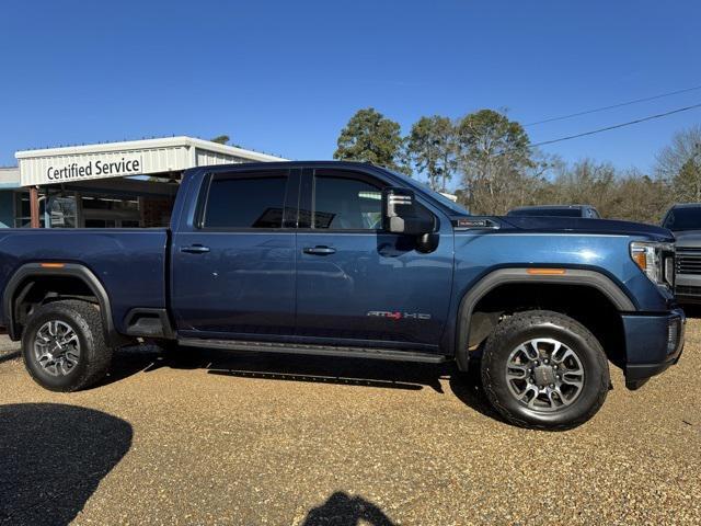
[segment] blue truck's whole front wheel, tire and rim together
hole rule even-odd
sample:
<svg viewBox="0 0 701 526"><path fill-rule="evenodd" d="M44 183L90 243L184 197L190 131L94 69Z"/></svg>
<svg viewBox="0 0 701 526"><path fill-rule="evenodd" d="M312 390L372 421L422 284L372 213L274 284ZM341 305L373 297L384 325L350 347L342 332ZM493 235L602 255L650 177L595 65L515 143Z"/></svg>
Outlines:
<svg viewBox="0 0 701 526"><path fill-rule="evenodd" d="M567 430L604 404L609 367L598 340L559 312L531 310L502 321L487 339L482 384L515 425Z"/></svg>

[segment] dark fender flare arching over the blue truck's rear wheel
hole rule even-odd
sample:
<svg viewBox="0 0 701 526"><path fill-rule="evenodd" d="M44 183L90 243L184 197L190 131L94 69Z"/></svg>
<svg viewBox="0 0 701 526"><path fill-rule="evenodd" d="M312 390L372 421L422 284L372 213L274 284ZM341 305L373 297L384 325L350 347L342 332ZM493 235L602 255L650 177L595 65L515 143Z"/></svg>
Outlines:
<svg viewBox="0 0 701 526"><path fill-rule="evenodd" d="M18 288L27 278L42 276L70 276L83 282L100 302L100 313L102 316L102 323L105 330L105 338L111 343L118 342L119 335L114 327L112 305L110 302L107 290L90 268L79 263L60 263L53 264L50 266L46 263L25 263L20 266L14 274L12 274L2 296L2 309L4 312L8 334L13 341L18 341L22 336L18 333L19 331L15 320L14 297L18 293Z"/></svg>

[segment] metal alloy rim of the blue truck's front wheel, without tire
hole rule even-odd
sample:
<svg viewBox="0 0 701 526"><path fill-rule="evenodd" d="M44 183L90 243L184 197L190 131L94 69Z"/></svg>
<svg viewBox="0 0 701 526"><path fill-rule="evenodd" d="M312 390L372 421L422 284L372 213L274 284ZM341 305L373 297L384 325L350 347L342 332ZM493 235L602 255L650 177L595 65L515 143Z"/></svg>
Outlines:
<svg viewBox="0 0 701 526"><path fill-rule="evenodd" d="M506 362L509 391L536 411L553 412L571 405L584 388L584 367L577 354L558 340L539 338L518 345Z"/></svg>

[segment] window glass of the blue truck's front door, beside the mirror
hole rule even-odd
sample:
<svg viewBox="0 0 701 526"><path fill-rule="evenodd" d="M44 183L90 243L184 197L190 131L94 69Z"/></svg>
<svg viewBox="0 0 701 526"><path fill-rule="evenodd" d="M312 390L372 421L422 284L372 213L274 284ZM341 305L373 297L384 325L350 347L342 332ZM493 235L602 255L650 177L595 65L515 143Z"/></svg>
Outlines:
<svg viewBox="0 0 701 526"><path fill-rule="evenodd" d="M382 193L365 181L314 178L313 228L376 230L382 225Z"/></svg>

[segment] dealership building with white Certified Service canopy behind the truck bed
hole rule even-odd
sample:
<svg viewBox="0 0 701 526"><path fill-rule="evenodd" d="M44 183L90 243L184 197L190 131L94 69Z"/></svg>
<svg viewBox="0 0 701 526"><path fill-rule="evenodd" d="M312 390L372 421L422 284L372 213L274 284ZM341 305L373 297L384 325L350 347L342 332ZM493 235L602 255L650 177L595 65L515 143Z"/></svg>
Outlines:
<svg viewBox="0 0 701 526"><path fill-rule="evenodd" d="M283 161L193 137L18 151L0 168L0 228L130 228L168 225L183 171Z"/></svg>

